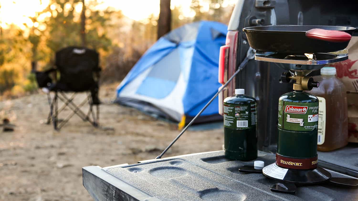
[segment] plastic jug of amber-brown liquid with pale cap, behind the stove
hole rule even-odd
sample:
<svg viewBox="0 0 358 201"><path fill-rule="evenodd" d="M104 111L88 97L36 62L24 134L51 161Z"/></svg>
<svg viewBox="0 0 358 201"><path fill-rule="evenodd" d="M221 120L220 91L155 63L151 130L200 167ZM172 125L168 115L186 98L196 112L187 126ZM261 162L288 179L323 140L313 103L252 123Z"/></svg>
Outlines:
<svg viewBox="0 0 358 201"><path fill-rule="evenodd" d="M318 151L331 151L348 144L347 93L335 76L334 67L321 69L315 77L320 86L311 90L319 99Z"/></svg>

